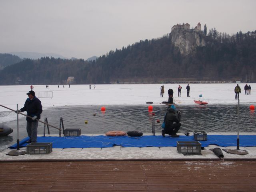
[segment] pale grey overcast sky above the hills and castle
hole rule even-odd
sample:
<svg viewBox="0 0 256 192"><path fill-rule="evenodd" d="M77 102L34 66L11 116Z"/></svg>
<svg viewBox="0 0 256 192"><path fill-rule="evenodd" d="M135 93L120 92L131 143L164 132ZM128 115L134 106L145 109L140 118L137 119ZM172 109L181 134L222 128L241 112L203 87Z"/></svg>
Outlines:
<svg viewBox="0 0 256 192"><path fill-rule="evenodd" d="M256 0L0 0L0 53L87 59L162 37L177 23L256 30Z"/></svg>

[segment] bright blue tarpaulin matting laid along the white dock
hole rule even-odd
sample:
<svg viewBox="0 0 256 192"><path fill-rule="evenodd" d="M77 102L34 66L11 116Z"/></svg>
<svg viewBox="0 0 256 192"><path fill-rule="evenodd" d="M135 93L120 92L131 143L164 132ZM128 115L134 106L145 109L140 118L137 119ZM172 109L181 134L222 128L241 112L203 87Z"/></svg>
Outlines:
<svg viewBox="0 0 256 192"><path fill-rule="evenodd" d="M236 146L236 135L207 135L207 141L200 141L202 147L210 144L226 147ZM240 135L240 146L256 146L256 135ZM20 141L20 147L27 145L24 138ZM180 136L172 138L170 136L77 136L77 137L38 137L37 142L52 142L53 148L105 148L114 145L122 147L176 147L177 141L194 141L194 136ZM17 144L10 146L17 148Z"/></svg>

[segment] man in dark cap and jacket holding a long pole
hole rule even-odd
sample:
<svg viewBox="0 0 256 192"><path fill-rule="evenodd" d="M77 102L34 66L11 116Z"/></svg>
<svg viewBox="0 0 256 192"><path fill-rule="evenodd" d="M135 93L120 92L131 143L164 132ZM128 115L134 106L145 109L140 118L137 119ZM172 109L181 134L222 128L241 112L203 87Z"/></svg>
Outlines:
<svg viewBox="0 0 256 192"><path fill-rule="evenodd" d="M28 95L28 98L24 104L24 107L19 110L19 112L27 111L28 116L27 117L27 132L28 136L30 138L27 142L36 142L37 141L37 127L38 127L38 121L36 119L40 119L40 115L42 113L42 104L41 101L35 96L34 91L29 91L26 93Z"/></svg>

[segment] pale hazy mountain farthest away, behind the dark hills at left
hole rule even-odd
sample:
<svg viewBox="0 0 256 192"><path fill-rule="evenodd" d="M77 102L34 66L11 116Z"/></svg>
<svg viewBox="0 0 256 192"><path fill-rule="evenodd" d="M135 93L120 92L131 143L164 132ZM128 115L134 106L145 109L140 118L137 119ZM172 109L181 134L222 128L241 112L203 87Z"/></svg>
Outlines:
<svg viewBox="0 0 256 192"><path fill-rule="evenodd" d="M59 54L54 53L36 53L36 52L11 52L10 54L14 54L19 56L20 58L29 58L29 59L40 59L42 57L54 57L54 58L61 58L61 59L68 59Z"/></svg>

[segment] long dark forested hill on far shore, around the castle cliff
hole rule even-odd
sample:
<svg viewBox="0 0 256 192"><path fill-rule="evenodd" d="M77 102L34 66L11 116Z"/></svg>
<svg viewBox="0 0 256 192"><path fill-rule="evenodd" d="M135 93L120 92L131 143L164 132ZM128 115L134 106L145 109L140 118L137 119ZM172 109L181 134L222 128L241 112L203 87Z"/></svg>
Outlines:
<svg viewBox="0 0 256 192"><path fill-rule="evenodd" d="M61 84L74 76L77 84L175 80L256 81L256 31L234 36L200 36L206 42L180 54L170 36L140 40L110 51L96 61L44 57L23 60L0 71L0 84Z"/></svg>

